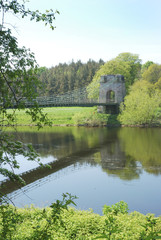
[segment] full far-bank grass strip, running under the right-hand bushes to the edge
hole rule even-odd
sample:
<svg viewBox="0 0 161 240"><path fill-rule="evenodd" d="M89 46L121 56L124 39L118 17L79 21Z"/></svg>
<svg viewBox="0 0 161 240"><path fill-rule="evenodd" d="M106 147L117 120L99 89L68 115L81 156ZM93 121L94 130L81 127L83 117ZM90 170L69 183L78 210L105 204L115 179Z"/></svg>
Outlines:
<svg viewBox="0 0 161 240"><path fill-rule="evenodd" d="M161 127L161 109L156 111L156 117L151 123L137 124L120 122L120 116L111 114L101 114L97 112L97 107L51 107L44 108L43 112L55 126L130 126L130 127ZM8 110L12 115L12 110ZM134 119L135 120L135 119ZM135 121L134 121L135 122ZM16 122L18 126L34 125L25 110L16 111Z"/></svg>

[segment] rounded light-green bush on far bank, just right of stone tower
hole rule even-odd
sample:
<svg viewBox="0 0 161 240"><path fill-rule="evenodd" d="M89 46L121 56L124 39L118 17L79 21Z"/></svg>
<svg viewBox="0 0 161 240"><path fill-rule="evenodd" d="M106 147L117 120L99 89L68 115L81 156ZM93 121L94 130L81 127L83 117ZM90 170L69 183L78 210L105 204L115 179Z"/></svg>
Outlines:
<svg viewBox="0 0 161 240"><path fill-rule="evenodd" d="M157 108L161 104L161 93L147 81L138 81L130 89L121 105L119 120L126 125L151 125L157 120Z"/></svg>

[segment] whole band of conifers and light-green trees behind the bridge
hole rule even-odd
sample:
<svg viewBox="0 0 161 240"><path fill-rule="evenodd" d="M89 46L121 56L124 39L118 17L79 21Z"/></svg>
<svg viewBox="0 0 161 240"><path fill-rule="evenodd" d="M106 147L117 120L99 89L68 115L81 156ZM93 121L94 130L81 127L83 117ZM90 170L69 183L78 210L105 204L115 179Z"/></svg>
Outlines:
<svg viewBox="0 0 161 240"><path fill-rule="evenodd" d="M125 79L126 97L120 106L121 124L137 125L161 122L161 65L152 61L142 64L137 54L120 53L114 59L87 63L71 62L38 69L43 85L39 95L63 94L87 87L88 97L98 99L100 77L121 74Z"/></svg>

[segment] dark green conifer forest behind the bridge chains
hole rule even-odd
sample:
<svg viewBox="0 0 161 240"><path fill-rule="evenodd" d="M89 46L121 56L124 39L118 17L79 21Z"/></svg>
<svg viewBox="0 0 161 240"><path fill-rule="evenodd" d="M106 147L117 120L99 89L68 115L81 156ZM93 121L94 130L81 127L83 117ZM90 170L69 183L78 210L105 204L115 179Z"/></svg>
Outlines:
<svg viewBox="0 0 161 240"><path fill-rule="evenodd" d="M87 63L79 60L69 64L60 63L49 69L41 67L38 69L38 78L43 86L41 95L52 96L85 87L103 64L101 59L99 62L89 60Z"/></svg>

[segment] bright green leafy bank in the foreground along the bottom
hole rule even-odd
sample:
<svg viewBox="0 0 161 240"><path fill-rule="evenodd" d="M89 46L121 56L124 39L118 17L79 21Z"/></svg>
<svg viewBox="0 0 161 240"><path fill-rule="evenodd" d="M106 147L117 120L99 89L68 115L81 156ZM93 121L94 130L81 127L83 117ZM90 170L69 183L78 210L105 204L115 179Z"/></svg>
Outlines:
<svg viewBox="0 0 161 240"><path fill-rule="evenodd" d="M104 207L104 215L67 208L68 202L57 201L48 208L0 207L0 239L71 240L161 239L161 217L127 213L120 202Z"/></svg>

